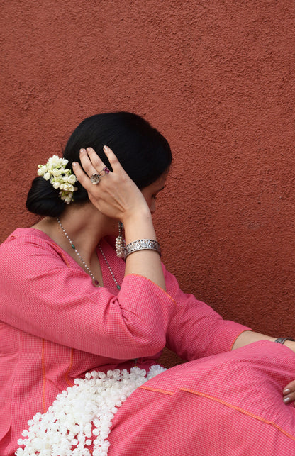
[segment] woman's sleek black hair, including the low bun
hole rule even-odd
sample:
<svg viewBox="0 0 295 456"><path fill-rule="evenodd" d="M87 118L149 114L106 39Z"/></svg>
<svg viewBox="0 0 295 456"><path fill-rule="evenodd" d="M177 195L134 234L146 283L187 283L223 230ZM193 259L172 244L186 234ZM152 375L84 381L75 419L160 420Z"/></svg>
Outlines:
<svg viewBox="0 0 295 456"><path fill-rule="evenodd" d="M172 162L169 143L150 123L136 114L120 111L96 114L77 126L70 136L63 157L72 169L72 162L80 162L81 148L94 148L96 154L111 169L103 147L108 145L122 167L139 189L155 182ZM87 191L77 182L74 202L88 201ZM35 177L28 192L26 207L40 216L57 217L65 209L59 190L43 177Z"/></svg>

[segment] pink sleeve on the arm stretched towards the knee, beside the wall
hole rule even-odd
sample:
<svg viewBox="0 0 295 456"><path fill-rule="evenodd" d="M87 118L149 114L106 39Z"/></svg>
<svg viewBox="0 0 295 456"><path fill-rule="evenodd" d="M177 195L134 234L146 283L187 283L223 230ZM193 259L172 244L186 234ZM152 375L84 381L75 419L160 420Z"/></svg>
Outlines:
<svg viewBox="0 0 295 456"><path fill-rule="evenodd" d="M216 355L230 350L235 339L247 326L223 318L198 301L191 294L184 294L177 279L165 272L167 293L177 303L167 328L167 347L184 360Z"/></svg>

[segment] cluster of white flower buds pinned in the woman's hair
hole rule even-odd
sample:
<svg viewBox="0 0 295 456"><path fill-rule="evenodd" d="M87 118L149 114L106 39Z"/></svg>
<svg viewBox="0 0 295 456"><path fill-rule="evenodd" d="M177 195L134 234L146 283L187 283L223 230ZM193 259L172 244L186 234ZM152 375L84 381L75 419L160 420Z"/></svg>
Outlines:
<svg viewBox="0 0 295 456"><path fill-rule="evenodd" d="M53 155L46 165L38 165L38 176L43 176L55 189L60 189L60 199L67 204L73 200L74 191L77 190L77 187L74 187L77 177L66 168L68 162L66 158Z"/></svg>

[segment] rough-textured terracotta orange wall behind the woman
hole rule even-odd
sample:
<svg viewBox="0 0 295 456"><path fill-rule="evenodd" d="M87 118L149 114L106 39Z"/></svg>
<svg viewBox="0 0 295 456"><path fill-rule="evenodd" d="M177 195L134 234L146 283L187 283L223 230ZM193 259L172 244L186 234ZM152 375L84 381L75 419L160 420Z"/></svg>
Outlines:
<svg viewBox="0 0 295 456"><path fill-rule="evenodd" d="M295 335L294 19L293 0L1 2L1 240L84 117L133 111L174 152L167 267L224 317Z"/></svg>

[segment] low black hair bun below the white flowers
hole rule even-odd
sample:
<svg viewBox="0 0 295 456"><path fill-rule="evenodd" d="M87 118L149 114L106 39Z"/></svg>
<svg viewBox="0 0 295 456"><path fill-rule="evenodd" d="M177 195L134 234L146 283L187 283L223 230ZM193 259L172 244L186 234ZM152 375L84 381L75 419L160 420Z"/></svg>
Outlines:
<svg viewBox="0 0 295 456"><path fill-rule="evenodd" d="M41 176L35 177L28 191L26 207L38 216L58 217L65 209L59 193L59 189L52 187L49 181Z"/></svg>

